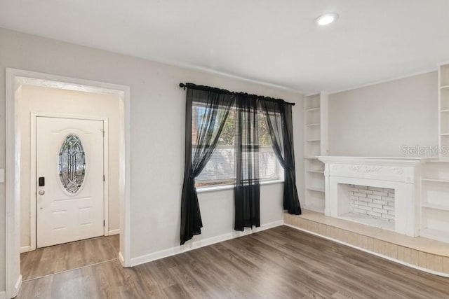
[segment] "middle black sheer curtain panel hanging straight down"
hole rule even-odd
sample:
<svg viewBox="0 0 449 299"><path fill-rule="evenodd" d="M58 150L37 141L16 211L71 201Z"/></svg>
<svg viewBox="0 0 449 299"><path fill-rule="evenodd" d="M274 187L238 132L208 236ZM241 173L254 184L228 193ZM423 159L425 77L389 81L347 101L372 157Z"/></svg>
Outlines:
<svg viewBox="0 0 449 299"><path fill-rule="evenodd" d="M259 115L257 99L236 95L235 230L260 226Z"/></svg>

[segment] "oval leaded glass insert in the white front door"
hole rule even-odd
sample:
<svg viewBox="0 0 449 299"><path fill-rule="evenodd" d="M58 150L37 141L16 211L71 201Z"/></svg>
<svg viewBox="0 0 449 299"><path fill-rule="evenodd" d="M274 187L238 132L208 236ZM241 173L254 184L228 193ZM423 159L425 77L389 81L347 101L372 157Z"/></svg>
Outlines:
<svg viewBox="0 0 449 299"><path fill-rule="evenodd" d="M59 178L68 193L76 193L84 180L86 155L81 139L70 134L62 141L59 151Z"/></svg>

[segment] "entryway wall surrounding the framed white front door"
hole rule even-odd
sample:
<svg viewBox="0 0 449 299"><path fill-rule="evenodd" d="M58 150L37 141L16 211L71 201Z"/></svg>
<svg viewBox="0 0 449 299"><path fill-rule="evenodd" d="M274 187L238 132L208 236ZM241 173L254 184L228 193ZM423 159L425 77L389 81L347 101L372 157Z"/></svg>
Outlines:
<svg viewBox="0 0 449 299"><path fill-rule="evenodd" d="M74 116L107 118L108 152L108 223L109 230L119 229L119 97L116 95L62 90L33 85L22 86L18 100L20 123L20 246L30 245L30 118L31 113L62 113ZM32 199L30 199L32 197Z"/></svg>

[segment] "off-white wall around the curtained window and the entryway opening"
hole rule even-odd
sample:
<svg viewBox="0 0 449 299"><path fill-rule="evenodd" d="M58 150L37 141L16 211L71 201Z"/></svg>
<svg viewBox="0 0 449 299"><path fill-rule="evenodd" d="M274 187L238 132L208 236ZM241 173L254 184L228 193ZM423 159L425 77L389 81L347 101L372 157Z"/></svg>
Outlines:
<svg viewBox="0 0 449 299"><path fill-rule="evenodd" d="M5 106L5 67L130 86L131 258L178 247L184 165L185 90L192 82L296 102L295 160L302 190L302 96L286 90L192 71L0 29L0 105ZM237 58L236 58L237 59ZM268 71L268 70L267 70ZM4 111L1 109L0 111ZM4 112L0 112L0 167L5 165ZM4 184L0 184L0 239L5 237ZM233 232L232 192L200 195L203 235ZM281 186L262 187L262 223L281 220ZM4 289L4 242L0 243L0 290Z"/></svg>

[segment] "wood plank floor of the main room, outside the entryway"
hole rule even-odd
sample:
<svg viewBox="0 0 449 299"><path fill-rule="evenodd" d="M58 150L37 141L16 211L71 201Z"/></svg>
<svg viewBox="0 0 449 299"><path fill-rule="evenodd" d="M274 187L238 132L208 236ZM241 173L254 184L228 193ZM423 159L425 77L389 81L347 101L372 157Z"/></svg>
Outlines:
<svg viewBox="0 0 449 299"><path fill-rule="evenodd" d="M112 260L25 281L18 298L449 298L449 279L280 226L136 267Z"/></svg>

